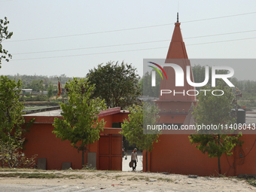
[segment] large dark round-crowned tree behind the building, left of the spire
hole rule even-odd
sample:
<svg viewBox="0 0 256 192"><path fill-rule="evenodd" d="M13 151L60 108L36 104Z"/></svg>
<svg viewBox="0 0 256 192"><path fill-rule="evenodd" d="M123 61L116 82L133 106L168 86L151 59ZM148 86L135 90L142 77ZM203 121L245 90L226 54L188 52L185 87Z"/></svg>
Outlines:
<svg viewBox="0 0 256 192"><path fill-rule="evenodd" d="M120 65L118 62L100 64L97 69L89 71L87 78L96 87L93 97L105 99L108 108L133 105L139 96L139 75L132 65L123 62Z"/></svg>

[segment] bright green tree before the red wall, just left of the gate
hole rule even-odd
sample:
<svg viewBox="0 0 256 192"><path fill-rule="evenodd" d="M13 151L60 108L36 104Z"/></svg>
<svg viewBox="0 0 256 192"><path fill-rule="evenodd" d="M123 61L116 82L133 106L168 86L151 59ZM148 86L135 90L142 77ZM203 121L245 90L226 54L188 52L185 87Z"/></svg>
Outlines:
<svg viewBox="0 0 256 192"><path fill-rule="evenodd" d="M62 141L68 140L74 148L82 151L82 166L87 145L99 139L99 133L105 125L98 118L100 111L105 110L105 101L91 99L95 89L85 78L66 82L65 88L69 95L69 105L61 103L63 119L55 118L53 133Z"/></svg>

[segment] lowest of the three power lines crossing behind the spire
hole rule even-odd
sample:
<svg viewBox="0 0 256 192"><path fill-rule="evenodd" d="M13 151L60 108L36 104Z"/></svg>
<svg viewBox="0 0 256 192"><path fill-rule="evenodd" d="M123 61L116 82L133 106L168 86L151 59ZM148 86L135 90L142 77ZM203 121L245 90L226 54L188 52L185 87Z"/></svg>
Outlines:
<svg viewBox="0 0 256 192"><path fill-rule="evenodd" d="M255 37L256 38L256 37ZM240 41L240 40L248 40L254 38L240 38L240 39L233 39L227 41ZM213 41L213 42L206 42L206 43L199 43L199 44L214 44L214 43L221 43L227 41ZM186 46L190 45L198 45L198 44L187 44ZM153 47L153 48L145 48L145 49L137 49L137 50L119 50L119 51L111 51L111 52L102 52L102 53L87 53L87 54L77 54L77 55L66 55L66 56L45 56L45 57L35 57L35 58L27 58L27 59L12 59L12 60L31 60L31 59L50 59L50 58L60 58L60 57L70 57L70 56L87 56L87 55L99 55L99 54L108 54L108 53L121 53L121 52L131 52L131 51L139 51L139 50L154 50L154 49L163 49L167 47Z"/></svg>

